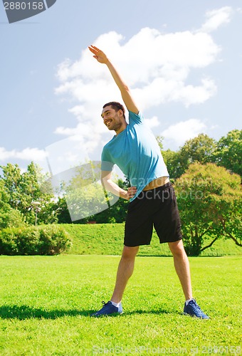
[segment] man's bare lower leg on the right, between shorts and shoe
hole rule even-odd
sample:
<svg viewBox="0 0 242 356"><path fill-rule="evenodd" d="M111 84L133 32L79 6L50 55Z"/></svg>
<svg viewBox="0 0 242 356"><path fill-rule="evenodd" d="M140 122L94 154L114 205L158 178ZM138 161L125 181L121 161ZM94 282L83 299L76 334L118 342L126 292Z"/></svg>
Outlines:
<svg viewBox="0 0 242 356"><path fill-rule="evenodd" d="M186 300L191 299L192 290L189 260L186 256L186 251L184 250L182 240L169 242L169 249L172 251L174 267L181 282L181 287L185 298Z"/></svg>

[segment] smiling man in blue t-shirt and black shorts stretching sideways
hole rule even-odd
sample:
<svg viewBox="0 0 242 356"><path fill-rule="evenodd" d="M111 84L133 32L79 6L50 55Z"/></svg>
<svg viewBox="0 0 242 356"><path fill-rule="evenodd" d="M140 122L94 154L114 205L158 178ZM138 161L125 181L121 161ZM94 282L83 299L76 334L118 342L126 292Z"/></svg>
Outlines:
<svg viewBox="0 0 242 356"><path fill-rule="evenodd" d="M184 314L209 319L192 296L189 261L182 243L177 199L169 182L169 174L157 140L146 125L130 89L105 53L95 46L90 46L89 49L94 54L93 57L110 70L129 113L127 123L122 104L114 101L102 108L104 124L108 130L115 131L115 136L102 150L102 184L113 194L129 200L130 204L115 289L112 298L93 316L122 313L122 295L134 271L135 256L141 245L150 244L154 226L159 242L168 243L172 251L174 266L185 297ZM127 191L112 182L114 164L120 167L130 181L131 187Z"/></svg>

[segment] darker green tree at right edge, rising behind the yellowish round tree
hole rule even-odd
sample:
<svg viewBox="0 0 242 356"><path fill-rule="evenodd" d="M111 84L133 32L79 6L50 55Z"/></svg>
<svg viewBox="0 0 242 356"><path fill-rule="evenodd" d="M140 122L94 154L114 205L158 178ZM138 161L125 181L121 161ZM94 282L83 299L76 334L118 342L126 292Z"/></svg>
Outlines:
<svg viewBox="0 0 242 356"><path fill-rule="evenodd" d="M214 162L242 176L242 130L232 130L221 137L214 152Z"/></svg>

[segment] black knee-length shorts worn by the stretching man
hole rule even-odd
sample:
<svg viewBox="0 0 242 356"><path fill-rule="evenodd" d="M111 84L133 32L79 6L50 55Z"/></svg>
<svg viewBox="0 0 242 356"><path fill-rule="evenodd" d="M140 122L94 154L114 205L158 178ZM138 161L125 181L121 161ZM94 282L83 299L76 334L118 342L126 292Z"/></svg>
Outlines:
<svg viewBox="0 0 242 356"><path fill-rule="evenodd" d="M160 244L182 239L177 198L170 182L142 191L130 202L125 223L125 246L149 245L153 226Z"/></svg>

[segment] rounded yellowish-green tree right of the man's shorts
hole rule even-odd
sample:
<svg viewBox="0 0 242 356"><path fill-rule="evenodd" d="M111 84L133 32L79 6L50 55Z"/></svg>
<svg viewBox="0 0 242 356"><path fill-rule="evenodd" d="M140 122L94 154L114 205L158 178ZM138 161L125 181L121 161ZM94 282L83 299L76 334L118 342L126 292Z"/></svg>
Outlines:
<svg viewBox="0 0 242 356"><path fill-rule="evenodd" d="M241 179L216 164L194 163L176 181L184 245L198 256L225 236L241 244ZM206 239L213 239L204 246Z"/></svg>

